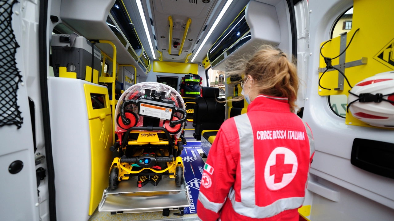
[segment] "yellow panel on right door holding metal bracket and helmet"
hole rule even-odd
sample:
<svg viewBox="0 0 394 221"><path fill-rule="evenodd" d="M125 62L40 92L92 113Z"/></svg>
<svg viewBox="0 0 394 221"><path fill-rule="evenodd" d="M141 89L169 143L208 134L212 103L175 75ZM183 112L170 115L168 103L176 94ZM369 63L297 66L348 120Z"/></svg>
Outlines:
<svg viewBox="0 0 394 221"><path fill-rule="evenodd" d="M354 86L357 82L374 76L381 72L394 70L394 57L389 54L394 46L394 29L391 27L391 21L394 20L394 1L392 0L354 0L353 5L353 24L352 29L347 34L346 45L355 34L353 41L346 50L346 63L360 60L362 57L368 58L368 63L364 65L345 68L345 75L349 82ZM322 42L323 44L324 42ZM322 44L320 46L322 46ZM325 57L336 57L340 51L340 36L333 38L331 42L324 45L322 53ZM391 53L393 55L394 53ZM339 58L333 59L333 66L339 63ZM320 55L320 65L324 68L323 57ZM319 77L322 73L319 73ZM336 88L338 86L338 71L326 72L321 79L320 84L326 88ZM348 96L349 85L344 81L344 90L325 90L319 89L320 96L345 94ZM321 90L321 91L320 91ZM371 127L354 118L350 113L346 114L346 124Z"/></svg>

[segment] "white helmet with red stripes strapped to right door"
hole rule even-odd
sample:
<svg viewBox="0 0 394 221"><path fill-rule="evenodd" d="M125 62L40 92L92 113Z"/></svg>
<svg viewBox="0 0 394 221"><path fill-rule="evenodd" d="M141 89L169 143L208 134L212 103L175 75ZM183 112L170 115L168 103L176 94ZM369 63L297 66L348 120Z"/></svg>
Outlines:
<svg viewBox="0 0 394 221"><path fill-rule="evenodd" d="M375 127L394 128L394 72L383 72L357 83L348 97L351 114Z"/></svg>

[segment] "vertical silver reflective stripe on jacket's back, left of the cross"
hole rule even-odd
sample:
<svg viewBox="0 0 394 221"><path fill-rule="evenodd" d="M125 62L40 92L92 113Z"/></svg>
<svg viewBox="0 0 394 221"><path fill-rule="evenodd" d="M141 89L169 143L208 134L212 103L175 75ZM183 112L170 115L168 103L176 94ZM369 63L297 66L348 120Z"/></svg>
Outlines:
<svg viewBox="0 0 394 221"><path fill-rule="evenodd" d="M245 206L255 206L255 152L253 129L247 114L234 117L240 138L241 202Z"/></svg>

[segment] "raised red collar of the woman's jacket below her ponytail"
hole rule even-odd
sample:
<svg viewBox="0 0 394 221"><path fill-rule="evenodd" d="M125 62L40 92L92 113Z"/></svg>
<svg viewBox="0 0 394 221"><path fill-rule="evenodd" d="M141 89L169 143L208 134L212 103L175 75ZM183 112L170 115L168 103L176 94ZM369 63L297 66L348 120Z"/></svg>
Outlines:
<svg viewBox="0 0 394 221"><path fill-rule="evenodd" d="M290 112L288 98L258 95L247 107L247 112L265 110L274 112Z"/></svg>

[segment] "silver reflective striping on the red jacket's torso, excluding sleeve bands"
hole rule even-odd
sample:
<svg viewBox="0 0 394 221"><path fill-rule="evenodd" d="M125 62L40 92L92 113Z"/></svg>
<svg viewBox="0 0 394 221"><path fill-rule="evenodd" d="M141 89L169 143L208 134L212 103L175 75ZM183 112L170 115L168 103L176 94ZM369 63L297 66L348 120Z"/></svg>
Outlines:
<svg viewBox="0 0 394 221"><path fill-rule="evenodd" d="M277 215L284 210L296 209L302 206L305 197L289 197L279 199L267 206L256 205L255 194L255 156L254 156L254 135L252 125L247 114L234 117L240 139L240 170L241 170L241 202L235 201L235 192L230 190L229 199L234 211L240 215L251 218L262 219ZM309 129L309 128L308 128ZM312 134L307 129L309 143L311 144ZM309 135L310 134L310 135ZM313 145L313 140L312 140ZM314 146L311 148L314 149ZM313 153L313 152L312 152Z"/></svg>

